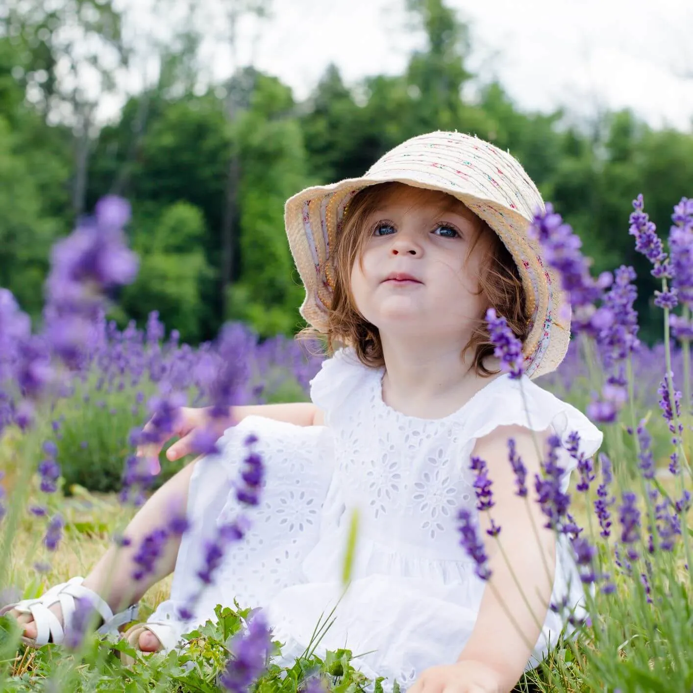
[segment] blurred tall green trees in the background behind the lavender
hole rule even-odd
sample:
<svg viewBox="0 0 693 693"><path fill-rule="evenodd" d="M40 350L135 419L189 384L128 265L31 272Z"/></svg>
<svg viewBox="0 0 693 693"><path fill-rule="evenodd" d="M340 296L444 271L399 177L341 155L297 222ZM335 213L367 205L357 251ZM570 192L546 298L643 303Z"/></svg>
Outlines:
<svg viewBox="0 0 693 693"><path fill-rule="evenodd" d="M62 103L69 96L58 61L79 62L71 53L75 39L60 28L82 8L82 33L120 60L121 14L91 0L71 0L52 13L37 1L10 6L0 32L0 286L37 315L49 245L74 222L73 150L81 137L48 124L49 98ZM406 6L425 42L403 73L346 85L331 66L298 105L286 85L253 69L195 91L201 37L193 24L177 29L175 46L161 47L159 80L98 132L87 160L87 209L109 192L134 208L143 270L137 287L123 292L116 313L122 322L141 322L157 308L191 342L213 337L229 317L262 335L296 331L302 293L283 234L286 198L308 184L362 175L407 137L441 128L477 134L516 155L581 236L596 272L633 264L641 335L656 338L655 287L626 232L629 201L642 191L666 235L672 199L693 188L692 135L652 130L630 112L579 125L562 111L522 112L502 85L471 71L471 33L449 3ZM108 91L112 76L101 63L97 69ZM24 100L29 86L40 94L35 105ZM221 286L229 193L236 202L234 262L230 285Z"/></svg>

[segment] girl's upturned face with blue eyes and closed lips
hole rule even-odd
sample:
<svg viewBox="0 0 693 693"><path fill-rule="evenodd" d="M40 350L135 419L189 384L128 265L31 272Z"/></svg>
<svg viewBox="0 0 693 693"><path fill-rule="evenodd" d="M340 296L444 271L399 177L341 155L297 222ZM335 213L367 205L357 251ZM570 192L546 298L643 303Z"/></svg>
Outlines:
<svg viewBox="0 0 693 693"><path fill-rule="evenodd" d="M394 186L367 216L351 268L360 313L383 333L428 336L464 347L486 310L479 294L487 243L480 219L444 193Z"/></svg>

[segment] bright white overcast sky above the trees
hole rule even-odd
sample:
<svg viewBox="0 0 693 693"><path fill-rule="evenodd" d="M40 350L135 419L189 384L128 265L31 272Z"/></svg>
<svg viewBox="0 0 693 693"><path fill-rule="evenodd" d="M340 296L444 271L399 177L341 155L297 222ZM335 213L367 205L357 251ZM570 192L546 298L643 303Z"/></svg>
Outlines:
<svg viewBox="0 0 693 693"><path fill-rule="evenodd" d="M137 8L131 26L140 37L161 30L143 9L155 0L121 1ZM168 8L173 3L160 1ZM234 65L222 36L225 7L234 1L198 3L203 8L198 21L208 33L204 64L216 78L227 76ZM256 67L281 78L297 98L310 92L329 62L349 83L370 74L401 73L410 51L422 42L421 34L407 28L404 3L273 0L270 19L239 25L238 63L247 64L254 55ZM520 107L565 105L586 116L632 107L653 126L693 131L691 0L448 3L471 24L470 67L485 77L498 76ZM156 16L162 19L160 11Z"/></svg>

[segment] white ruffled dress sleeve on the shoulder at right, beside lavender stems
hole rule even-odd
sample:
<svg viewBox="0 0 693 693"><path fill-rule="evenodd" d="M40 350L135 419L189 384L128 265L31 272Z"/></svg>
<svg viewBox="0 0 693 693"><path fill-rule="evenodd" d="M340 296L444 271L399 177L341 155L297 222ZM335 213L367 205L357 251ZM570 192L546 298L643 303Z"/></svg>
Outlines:
<svg viewBox="0 0 693 693"><path fill-rule="evenodd" d="M464 422L467 440L483 438L498 426L523 426L534 431L551 429L563 446L568 445L570 434L577 433L578 450L585 457L592 457L602 445L604 435L587 416L527 376L519 380L500 376L498 382L484 387L479 395ZM561 466L565 468L567 486L577 460L565 453L561 455Z"/></svg>

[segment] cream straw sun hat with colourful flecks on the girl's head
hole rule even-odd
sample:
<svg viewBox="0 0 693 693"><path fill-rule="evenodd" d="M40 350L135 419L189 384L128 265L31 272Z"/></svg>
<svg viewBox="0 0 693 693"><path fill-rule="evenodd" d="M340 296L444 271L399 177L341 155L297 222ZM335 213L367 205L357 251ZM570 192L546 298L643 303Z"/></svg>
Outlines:
<svg viewBox="0 0 693 693"><path fill-rule="evenodd" d="M527 227L544 204L536 186L507 152L459 132L413 137L387 152L365 176L306 188L286 202L286 233L306 299L301 315L327 331L333 288L330 252L344 209L369 185L400 182L441 191L463 202L500 236L520 270L532 329L525 341L525 372L536 378L554 370L568 349L570 310L559 277L542 261Z"/></svg>

